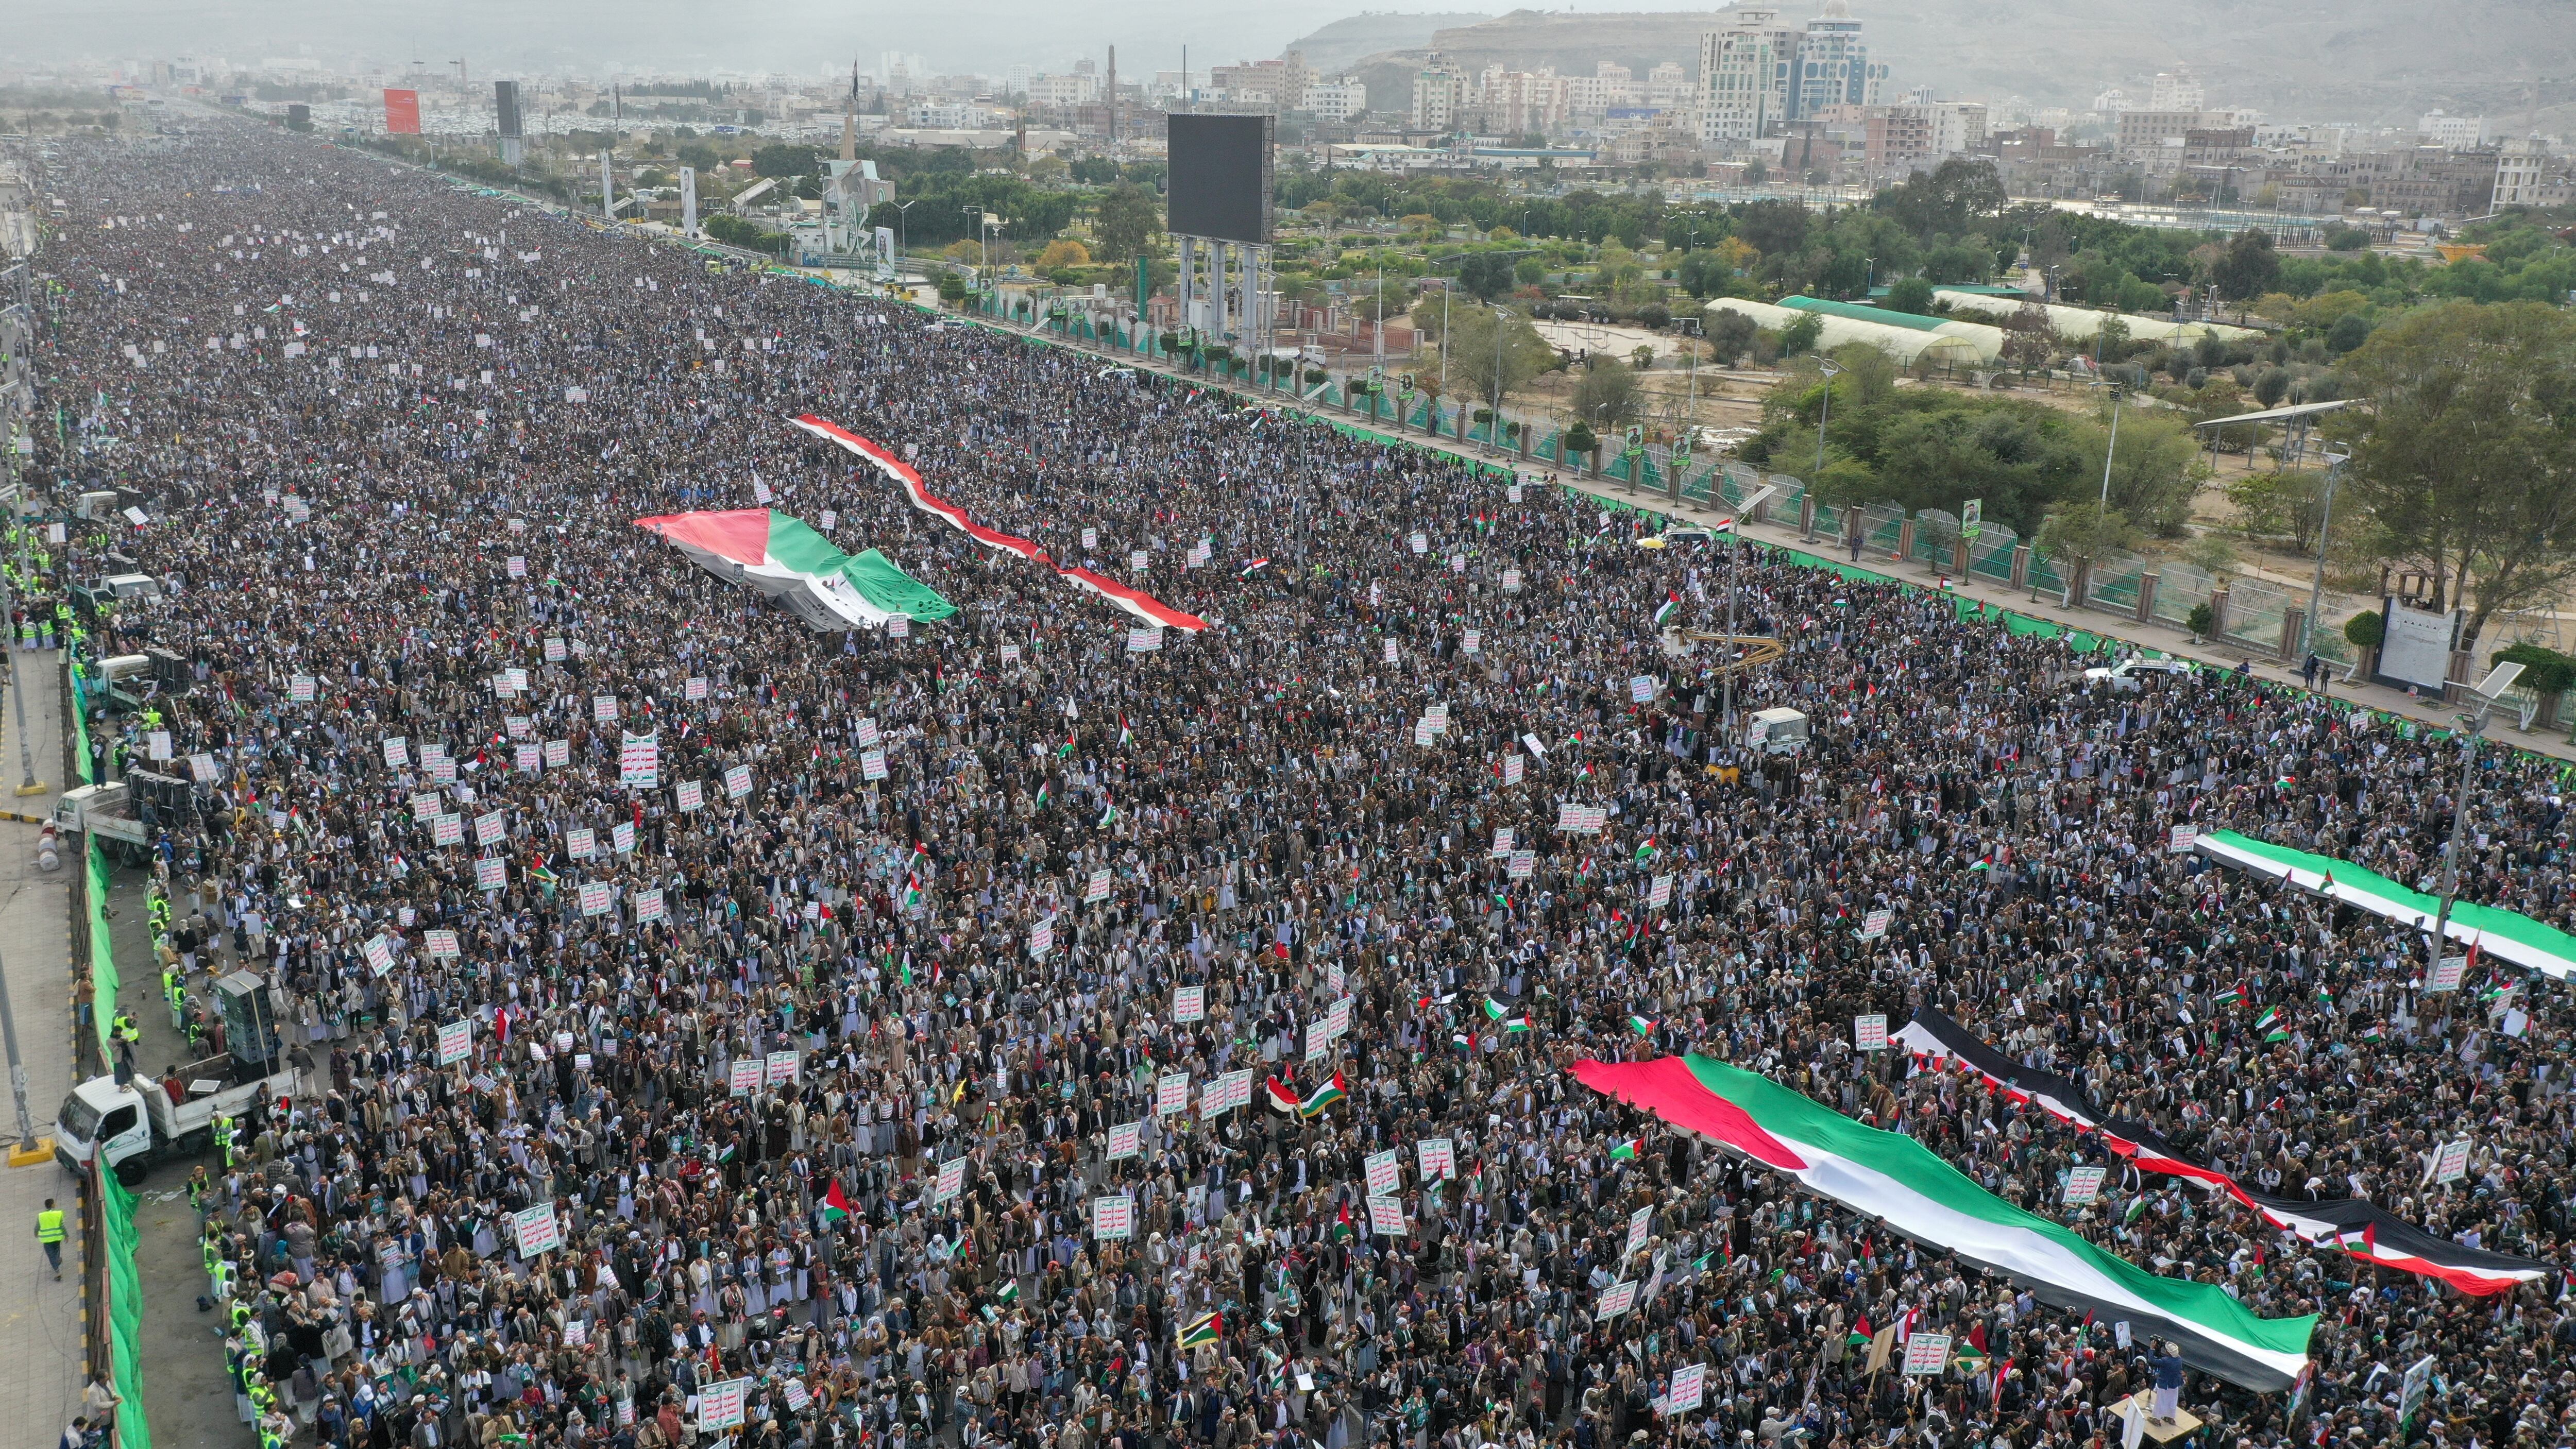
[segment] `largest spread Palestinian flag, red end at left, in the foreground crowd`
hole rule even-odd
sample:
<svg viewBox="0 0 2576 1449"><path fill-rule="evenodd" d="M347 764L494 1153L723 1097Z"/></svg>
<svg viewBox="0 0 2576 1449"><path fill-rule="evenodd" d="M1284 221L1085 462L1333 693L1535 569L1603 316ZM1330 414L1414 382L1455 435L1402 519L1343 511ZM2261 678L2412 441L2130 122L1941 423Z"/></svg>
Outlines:
<svg viewBox="0 0 2576 1449"><path fill-rule="evenodd" d="M1765 1076L1703 1055L1582 1060L1574 1076L2045 1302L2172 1338L2187 1364L2231 1385L2277 1392L2308 1367L2316 1318L2257 1318L2218 1287L2156 1277L1994 1197L1914 1138L1862 1127Z"/></svg>

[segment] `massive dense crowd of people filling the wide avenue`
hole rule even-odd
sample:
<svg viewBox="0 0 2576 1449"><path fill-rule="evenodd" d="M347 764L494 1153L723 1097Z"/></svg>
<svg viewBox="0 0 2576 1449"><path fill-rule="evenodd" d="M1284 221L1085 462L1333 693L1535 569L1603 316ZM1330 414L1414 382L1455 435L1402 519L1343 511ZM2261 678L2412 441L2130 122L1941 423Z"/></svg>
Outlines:
<svg viewBox="0 0 2576 1449"><path fill-rule="evenodd" d="M52 190L36 474L139 489L149 522L46 566L116 548L170 584L85 649L170 649L193 685L100 749L209 762L160 831L170 939L198 983L265 973L299 1068L201 1204L273 1444L2123 1434L2148 1343L1566 1073L1682 1050L2321 1315L2295 1395L2192 1380L2210 1444L2568 1439L2558 1282L2357 1269L2136 1166L2069 1207L2099 1156L2061 1122L1852 1042L1940 1009L2267 1192L2561 1264L2566 993L2524 983L2504 1032L2478 991L2424 999L2419 937L2166 849L2233 826L2421 880L2450 744L2215 674L2087 687L1940 592L1643 551L1538 479L309 139L75 144ZM1131 618L804 412L1208 628L1131 651ZM961 610L809 633L631 525L755 499ZM1806 710L1801 752L1728 739L1710 656L1662 646L1662 605L1713 628L1731 587L1785 646L1736 705ZM644 734L654 780L621 782ZM2481 770L2465 896L2566 924L2558 770ZM1401 1230L1365 1207L1386 1150ZM1862 1323L1984 1354L1873 1374ZM1705 1405L1659 1413L1682 1364Z"/></svg>

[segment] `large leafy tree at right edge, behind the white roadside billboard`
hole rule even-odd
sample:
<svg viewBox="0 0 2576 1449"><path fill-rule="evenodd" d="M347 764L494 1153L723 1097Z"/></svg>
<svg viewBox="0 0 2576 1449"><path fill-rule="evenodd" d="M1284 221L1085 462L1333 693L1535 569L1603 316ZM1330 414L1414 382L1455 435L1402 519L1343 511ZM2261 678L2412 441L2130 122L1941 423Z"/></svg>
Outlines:
<svg viewBox="0 0 2576 1449"><path fill-rule="evenodd" d="M2411 311L2344 358L2349 492L2372 548L2468 607L2460 649L2576 579L2576 317L2537 301Z"/></svg>

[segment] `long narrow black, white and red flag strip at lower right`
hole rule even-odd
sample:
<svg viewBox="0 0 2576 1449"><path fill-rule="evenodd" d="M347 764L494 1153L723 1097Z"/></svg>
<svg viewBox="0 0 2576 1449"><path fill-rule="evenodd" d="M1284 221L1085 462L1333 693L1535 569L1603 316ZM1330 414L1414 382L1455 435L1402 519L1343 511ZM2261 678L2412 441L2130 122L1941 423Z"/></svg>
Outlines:
<svg viewBox="0 0 2576 1449"><path fill-rule="evenodd" d="M2303 1202L2254 1192L2236 1181L2236 1174L2166 1143L2146 1122L2102 1112L2079 1084L2007 1058L1940 1011L1917 1011L1891 1040L1904 1042L1914 1053L1914 1060L1968 1071L1996 1086L2007 1102L2040 1107L2079 1132L2099 1132L2112 1153L2130 1158L2141 1171L2161 1171L2226 1189L2275 1228L2298 1233L2324 1248L2344 1248L2372 1266L2442 1279L2468 1295L2514 1292L2527 1282L2555 1277L2555 1269L2548 1264L2437 1238L2360 1197Z"/></svg>

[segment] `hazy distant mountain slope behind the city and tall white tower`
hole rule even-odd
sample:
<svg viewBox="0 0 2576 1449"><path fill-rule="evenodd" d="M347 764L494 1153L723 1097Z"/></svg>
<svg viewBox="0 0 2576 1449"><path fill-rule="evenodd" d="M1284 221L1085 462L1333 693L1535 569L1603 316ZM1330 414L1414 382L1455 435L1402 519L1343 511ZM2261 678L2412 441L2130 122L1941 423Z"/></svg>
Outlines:
<svg viewBox="0 0 2576 1449"><path fill-rule="evenodd" d="M1821 5L1777 8L1795 21ZM1347 69L1370 75L1370 106L1388 103L1376 93L1381 75L1396 77L1430 51L1468 75L1486 64L1592 75L1605 59L1636 75L1667 59L1698 69L1700 36L1726 13L1512 10L1355 57ZM2272 118L2406 124L2439 106L2519 134L2563 129L2576 106L2576 0L2458 0L2439 10L2398 0L1860 0L1852 15L1868 23L1870 59L1893 67L1891 95L1929 85L1942 98L2089 106L2120 85L2143 100L2159 69L2190 64L2210 106L2254 106Z"/></svg>

